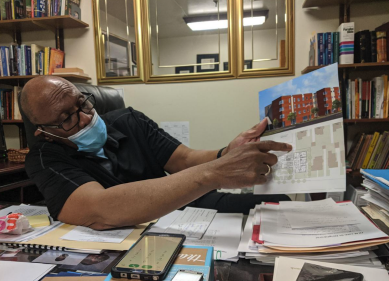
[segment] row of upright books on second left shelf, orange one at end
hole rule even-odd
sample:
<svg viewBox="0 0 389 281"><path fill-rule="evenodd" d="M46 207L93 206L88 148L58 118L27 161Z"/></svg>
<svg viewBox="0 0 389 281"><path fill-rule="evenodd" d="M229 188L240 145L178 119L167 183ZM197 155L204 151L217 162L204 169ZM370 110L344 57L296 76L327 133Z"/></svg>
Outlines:
<svg viewBox="0 0 389 281"><path fill-rule="evenodd" d="M61 68L65 53L35 44L1 46L0 75L51 75L55 68Z"/></svg>

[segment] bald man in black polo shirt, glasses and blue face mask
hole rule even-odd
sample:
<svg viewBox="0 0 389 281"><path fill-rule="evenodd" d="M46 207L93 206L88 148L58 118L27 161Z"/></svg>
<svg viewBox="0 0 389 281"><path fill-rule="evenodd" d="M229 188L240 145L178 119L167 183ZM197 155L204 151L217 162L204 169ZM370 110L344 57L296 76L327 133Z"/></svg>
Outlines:
<svg viewBox="0 0 389 281"><path fill-rule="evenodd" d="M42 140L31 147L26 171L52 217L108 229L160 218L185 206L248 213L262 200L289 200L215 192L266 182L285 143L260 142L266 121L241 133L225 149L186 147L129 107L99 116L92 94L54 76L31 79L22 110ZM169 176L166 176L166 172Z"/></svg>

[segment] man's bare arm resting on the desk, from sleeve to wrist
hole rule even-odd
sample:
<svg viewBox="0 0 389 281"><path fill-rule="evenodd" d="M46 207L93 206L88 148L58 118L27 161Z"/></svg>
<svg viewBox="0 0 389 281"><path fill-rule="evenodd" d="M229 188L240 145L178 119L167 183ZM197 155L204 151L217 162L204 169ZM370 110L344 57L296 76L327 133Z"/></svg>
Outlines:
<svg viewBox="0 0 389 281"><path fill-rule="evenodd" d="M197 166L168 177L108 189L97 182L89 183L70 195L58 218L94 229L148 222L218 188L214 176L206 167Z"/></svg>

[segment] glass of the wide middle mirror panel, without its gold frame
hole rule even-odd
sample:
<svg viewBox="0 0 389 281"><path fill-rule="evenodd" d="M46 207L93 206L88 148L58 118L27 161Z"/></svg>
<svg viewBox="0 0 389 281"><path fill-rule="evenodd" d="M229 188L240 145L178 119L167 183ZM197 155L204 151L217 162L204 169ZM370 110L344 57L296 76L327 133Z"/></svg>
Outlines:
<svg viewBox="0 0 389 281"><path fill-rule="evenodd" d="M149 0L152 76L228 71L227 0Z"/></svg>

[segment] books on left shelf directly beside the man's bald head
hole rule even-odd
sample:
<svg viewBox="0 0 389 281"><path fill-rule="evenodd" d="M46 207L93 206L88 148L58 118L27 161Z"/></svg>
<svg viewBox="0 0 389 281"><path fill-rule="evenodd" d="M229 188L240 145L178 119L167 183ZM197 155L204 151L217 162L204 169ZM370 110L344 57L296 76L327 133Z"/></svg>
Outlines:
<svg viewBox="0 0 389 281"><path fill-rule="evenodd" d="M3 120L21 120L18 104L20 87L14 89L0 89L0 117Z"/></svg>

